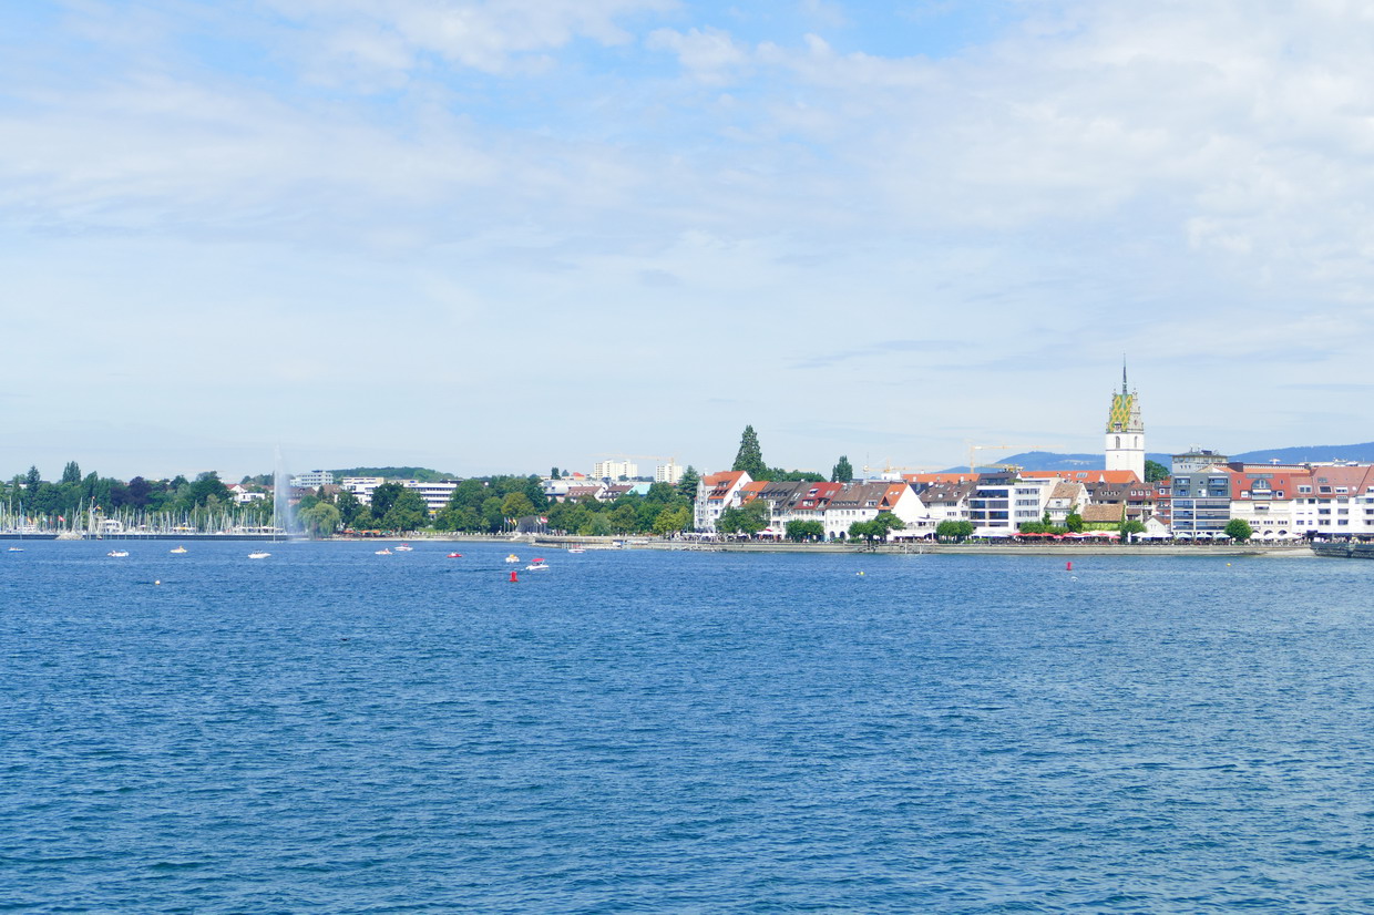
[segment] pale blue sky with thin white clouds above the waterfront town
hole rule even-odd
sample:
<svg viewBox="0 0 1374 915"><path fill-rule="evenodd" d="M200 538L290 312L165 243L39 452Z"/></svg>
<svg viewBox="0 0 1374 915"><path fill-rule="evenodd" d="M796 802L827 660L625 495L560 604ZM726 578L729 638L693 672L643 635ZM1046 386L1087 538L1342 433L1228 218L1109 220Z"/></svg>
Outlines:
<svg viewBox="0 0 1374 915"><path fill-rule="evenodd" d="M1369 441L1370 85L1344 0L0 4L0 475L1098 452L1123 359Z"/></svg>

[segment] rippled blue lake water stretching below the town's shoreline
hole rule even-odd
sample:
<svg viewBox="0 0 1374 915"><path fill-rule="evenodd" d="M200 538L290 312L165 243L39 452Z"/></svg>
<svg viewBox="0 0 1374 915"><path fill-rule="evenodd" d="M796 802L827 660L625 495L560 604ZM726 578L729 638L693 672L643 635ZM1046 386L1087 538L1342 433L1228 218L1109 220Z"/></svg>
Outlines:
<svg viewBox="0 0 1374 915"><path fill-rule="evenodd" d="M1374 910L1374 562L23 545L0 911Z"/></svg>

